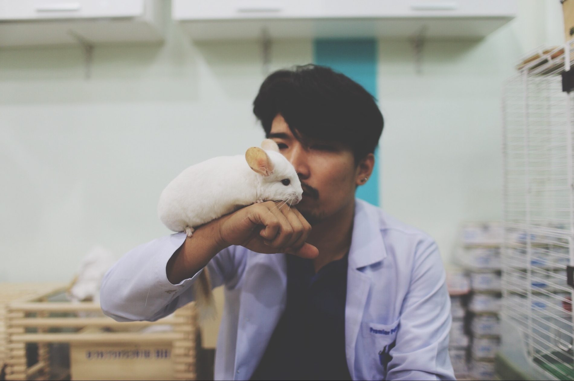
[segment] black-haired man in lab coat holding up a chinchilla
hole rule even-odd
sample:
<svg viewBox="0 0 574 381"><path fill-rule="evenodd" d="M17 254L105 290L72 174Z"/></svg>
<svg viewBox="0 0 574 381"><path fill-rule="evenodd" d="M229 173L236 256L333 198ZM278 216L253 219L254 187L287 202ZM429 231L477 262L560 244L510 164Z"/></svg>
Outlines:
<svg viewBox="0 0 574 381"><path fill-rule="evenodd" d="M207 267L226 295L215 379L453 380L435 241L355 199L383 129L373 96L304 65L269 75L253 106L297 170L300 203L249 205L134 248L104 277L104 313L164 317Z"/></svg>

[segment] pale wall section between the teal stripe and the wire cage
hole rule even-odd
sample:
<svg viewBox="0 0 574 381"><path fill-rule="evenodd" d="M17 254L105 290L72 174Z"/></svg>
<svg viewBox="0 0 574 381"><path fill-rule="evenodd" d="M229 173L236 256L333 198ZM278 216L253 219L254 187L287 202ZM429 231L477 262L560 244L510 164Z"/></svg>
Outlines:
<svg viewBox="0 0 574 381"><path fill-rule="evenodd" d="M451 259L457 225L502 219L502 87L525 53L564 42L561 5L520 0L484 40L429 41L417 75L408 42L380 41L381 204Z"/></svg>

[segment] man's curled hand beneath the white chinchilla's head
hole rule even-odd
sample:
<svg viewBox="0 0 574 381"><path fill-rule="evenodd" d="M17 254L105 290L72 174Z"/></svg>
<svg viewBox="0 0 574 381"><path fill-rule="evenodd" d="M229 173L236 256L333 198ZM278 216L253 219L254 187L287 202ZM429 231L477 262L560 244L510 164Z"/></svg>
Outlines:
<svg viewBox="0 0 574 381"><path fill-rule="evenodd" d="M309 233L311 225L305 217L283 201L249 205L219 219L222 246L239 245L266 254L316 258L319 250L305 242Z"/></svg>

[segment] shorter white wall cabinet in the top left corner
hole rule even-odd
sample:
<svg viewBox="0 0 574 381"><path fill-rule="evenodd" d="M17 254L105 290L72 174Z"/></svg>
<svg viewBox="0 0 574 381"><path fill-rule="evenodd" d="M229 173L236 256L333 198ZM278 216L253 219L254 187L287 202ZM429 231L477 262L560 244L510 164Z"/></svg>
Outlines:
<svg viewBox="0 0 574 381"><path fill-rule="evenodd" d="M157 0L0 0L0 46L161 42Z"/></svg>

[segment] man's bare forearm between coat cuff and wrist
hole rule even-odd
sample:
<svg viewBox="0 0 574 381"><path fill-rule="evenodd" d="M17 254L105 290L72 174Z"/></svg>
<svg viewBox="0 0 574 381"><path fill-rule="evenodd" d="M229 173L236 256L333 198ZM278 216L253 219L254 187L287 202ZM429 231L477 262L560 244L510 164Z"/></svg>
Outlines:
<svg viewBox="0 0 574 381"><path fill-rule="evenodd" d="M193 236L186 238L173 253L165 268L170 283L177 285L193 277L211 258L227 247L219 236L219 221L217 219L197 228Z"/></svg>

